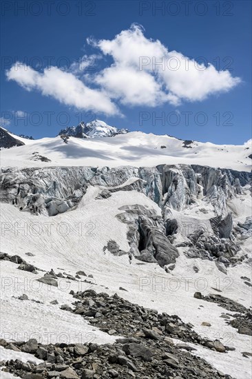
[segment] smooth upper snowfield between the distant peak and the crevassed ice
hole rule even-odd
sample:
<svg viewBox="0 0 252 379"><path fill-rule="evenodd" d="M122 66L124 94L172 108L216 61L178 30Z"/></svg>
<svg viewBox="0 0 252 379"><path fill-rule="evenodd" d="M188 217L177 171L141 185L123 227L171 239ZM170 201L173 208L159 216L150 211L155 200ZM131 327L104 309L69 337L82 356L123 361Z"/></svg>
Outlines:
<svg viewBox="0 0 252 379"><path fill-rule="evenodd" d="M95 131L98 132L96 128ZM90 130L90 133L92 131ZM94 130L93 130L94 132ZM104 132L104 130L103 130ZM92 136L95 135L96 132ZM12 134L13 135L13 134ZM14 136L14 135L13 135ZM16 137L15 137L16 138ZM64 143L61 136L27 140L17 137L25 145L1 151L2 166L32 167L34 155L50 161L36 165L120 165L154 166L160 164L199 164L251 171L252 140L244 145L215 145L196 141L181 141L171 136L157 136L143 132L118 134L113 138L80 139L70 137ZM34 154L35 153L35 154Z"/></svg>

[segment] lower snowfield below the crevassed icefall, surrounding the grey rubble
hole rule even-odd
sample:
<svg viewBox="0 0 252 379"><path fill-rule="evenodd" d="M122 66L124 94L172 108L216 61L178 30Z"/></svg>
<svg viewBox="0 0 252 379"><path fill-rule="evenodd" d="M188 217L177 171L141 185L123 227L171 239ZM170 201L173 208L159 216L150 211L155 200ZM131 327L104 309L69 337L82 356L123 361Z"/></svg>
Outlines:
<svg viewBox="0 0 252 379"><path fill-rule="evenodd" d="M207 295L218 294L220 290L222 296L249 307L251 287L244 285L240 279L241 276L250 276L249 264L230 267L226 275L217 269L213 261L189 259L185 256L185 248L179 247L180 256L176 267L167 274L155 263L143 264L133 258L129 264L127 255L114 256L109 251L104 252L103 247L109 239L115 240L120 249L129 249L127 225L116 218L116 214L122 212L120 207L137 203L155 209L159 216L160 209L144 194L135 191L120 191L107 199L97 200L100 192L99 187L89 187L78 208L50 219L49 229L47 216L36 217L28 212L19 212L13 205L1 205L2 223L6 225L2 236L5 252L19 254L46 272L53 268L56 273L66 272L74 276L81 269L94 276L91 284L59 278L59 287L39 286L35 280L43 273L39 272L38 275L23 272L17 269L17 265L2 261L2 337L17 340L18 336L19 340L28 340L30 336L35 336L45 344L48 343L48 336L52 343L59 342L59 338L63 337L67 338L67 342L76 343L80 342L80 336L81 342L90 342L90 339L98 344L112 342L114 336L102 333L80 315L62 310L61 305L72 307L70 290L85 291L91 288L109 295L116 292L132 303L156 309L160 313L176 314L184 322L190 322L202 338L217 338L224 345L234 347L234 351L222 354L201 345L192 345L196 349L194 353L207 359L216 369L238 379L250 379L251 358L242 356L242 351L250 351L251 337L238 334L222 318L224 313L233 315L234 312L218 307L218 304L193 298L195 291ZM242 198L246 201L245 207ZM237 198L236 202L237 216L244 221L250 212L247 206L249 191ZM231 201L230 206L232 204ZM188 223L196 221L196 217L207 217L199 212L202 205L198 201L198 204L191 205L184 211ZM211 207L204 205L204 208L212 212ZM244 209L247 213L243 213ZM18 223L19 231L15 230L14 222ZM251 238L242 244L242 252L251 257ZM34 256L26 255L29 252ZM195 266L198 267L198 272L194 271ZM127 291L120 290L119 287ZM27 294L33 301L18 300L22 294ZM59 305L50 304L55 299ZM41 303L35 303L34 300ZM205 327L202 322L209 322L211 327Z"/></svg>

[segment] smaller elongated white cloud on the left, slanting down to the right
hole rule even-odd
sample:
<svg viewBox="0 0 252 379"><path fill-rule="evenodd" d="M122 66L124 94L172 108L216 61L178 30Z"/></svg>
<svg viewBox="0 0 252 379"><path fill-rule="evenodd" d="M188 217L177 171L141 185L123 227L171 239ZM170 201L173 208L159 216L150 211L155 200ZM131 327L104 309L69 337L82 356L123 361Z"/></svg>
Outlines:
<svg viewBox="0 0 252 379"><path fill-rule="evenodd" d="M88 88L71 72L50 67L41 73L17 62L6 74L8 80L17 81L26 90L39 90L43 95L52 96L65 105L104 114L118 113L116 105L103 90Z"/></svg>

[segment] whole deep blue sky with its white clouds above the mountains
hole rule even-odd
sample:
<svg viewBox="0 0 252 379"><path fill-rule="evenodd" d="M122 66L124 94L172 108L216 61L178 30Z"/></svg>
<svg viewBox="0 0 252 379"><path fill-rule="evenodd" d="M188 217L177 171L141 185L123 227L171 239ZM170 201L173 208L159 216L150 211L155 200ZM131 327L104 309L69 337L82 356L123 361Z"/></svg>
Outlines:
<svg viewBox="0 0 252 379"><path fill-rule="evenodd" d="M181 139L251 138L251 1L48 7L1 3L1 117L15 134L101 119Z"/></svg>

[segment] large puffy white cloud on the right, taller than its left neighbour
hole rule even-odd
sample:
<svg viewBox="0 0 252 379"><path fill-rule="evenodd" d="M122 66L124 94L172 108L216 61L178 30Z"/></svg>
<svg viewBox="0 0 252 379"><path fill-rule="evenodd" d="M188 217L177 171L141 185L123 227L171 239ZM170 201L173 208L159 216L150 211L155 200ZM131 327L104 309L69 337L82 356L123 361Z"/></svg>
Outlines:
<svg viewBox="0 0 252 379"><path fill-rule="evenodd" d="M89 41L114 63L96 81L123 103L152 105L202 101L210 94L227 92L240 83L229 71L198 64L158 40L147 39L143 28L132 25L112 40ZM142 93L145 92L145 93Z"/></svg>

